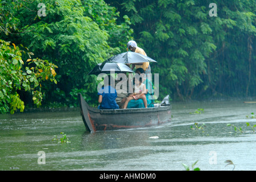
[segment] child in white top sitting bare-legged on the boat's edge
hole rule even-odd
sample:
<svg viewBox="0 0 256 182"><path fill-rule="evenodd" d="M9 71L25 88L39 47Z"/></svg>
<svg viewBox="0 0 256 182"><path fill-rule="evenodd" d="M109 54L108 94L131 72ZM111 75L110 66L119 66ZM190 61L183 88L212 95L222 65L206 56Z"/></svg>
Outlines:
<svg viewBox="0 0 256 182"><path fill-rule="evenodd" d="M145 108L147 108L147 99L145 94L147 93L146 85L142 84L142 78L135 78L135 86L134 86L134 93L130 94L129 97L127 97L127 100L125 101L125 104L123 105L123 109L127 108L127 105L129 101L131 100L139 100L142 99Z"/></svg>

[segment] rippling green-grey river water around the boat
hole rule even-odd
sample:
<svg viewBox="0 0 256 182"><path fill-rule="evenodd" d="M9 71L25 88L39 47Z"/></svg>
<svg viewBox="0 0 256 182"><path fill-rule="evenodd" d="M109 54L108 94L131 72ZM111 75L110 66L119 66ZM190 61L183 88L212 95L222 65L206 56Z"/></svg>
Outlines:
<svg viewBox="0 0 256 182"><path fill-rule="evenodd" d="M256 125L256 119L246 118L256 114L256 104L172 105L172 121L165 125L96 133L85 131L78 109L1 114L0 170L182 171L182 164L191 169L196 161L195 168L203 171L256 169L256 135L246 126L246 122ZM203 113L191 114L198 108ZM205 127L196 129L194 123ZM61 138L60 133L70 143L52 141L54 135Z"/></svg>

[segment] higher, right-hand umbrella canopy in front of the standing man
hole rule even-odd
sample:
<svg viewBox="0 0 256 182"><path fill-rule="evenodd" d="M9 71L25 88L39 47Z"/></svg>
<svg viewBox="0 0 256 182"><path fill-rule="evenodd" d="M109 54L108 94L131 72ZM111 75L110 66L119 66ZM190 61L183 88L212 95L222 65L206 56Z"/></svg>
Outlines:
<svg viewBox="0 0 256 182"><path fill-rule="evenodd" d="M134 64L134 63L145 63L145 62L157 62L150 57L144 56L141 53L136 52L123 52L110 57L106 60L107 62L123 63L123 64Z"/></svg>

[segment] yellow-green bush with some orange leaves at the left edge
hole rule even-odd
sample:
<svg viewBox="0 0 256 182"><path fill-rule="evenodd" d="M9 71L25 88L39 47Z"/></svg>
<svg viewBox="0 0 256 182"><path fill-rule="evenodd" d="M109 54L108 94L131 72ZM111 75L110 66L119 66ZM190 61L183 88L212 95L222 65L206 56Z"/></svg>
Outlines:
<svg viewBox="0 0 256 182"><path fill-rule="evenodd" d="M17 109L23 111L25 104L19 93L30 92L35 105L42 101L41 82L55 80L55 66L47 60L22 60L18 46L10 46L10 42L0 40L0 113L14 113ZM29 52L29 55L33 53Z"/></svg>

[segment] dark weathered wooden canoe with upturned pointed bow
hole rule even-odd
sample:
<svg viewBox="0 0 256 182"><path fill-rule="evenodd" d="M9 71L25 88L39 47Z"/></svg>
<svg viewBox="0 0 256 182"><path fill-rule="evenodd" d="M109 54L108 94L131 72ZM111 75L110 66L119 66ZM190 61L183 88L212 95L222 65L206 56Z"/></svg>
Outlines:
<svg viewBox="0 0 256 182"><path fill-rule="evenodd" d="M91 107L78 94L81 115L86 130L107 131L134 129L138 127L161 125L171 121L169 102L158 107L134 109L97 109Z"/></svg>

